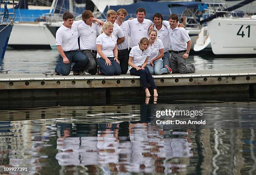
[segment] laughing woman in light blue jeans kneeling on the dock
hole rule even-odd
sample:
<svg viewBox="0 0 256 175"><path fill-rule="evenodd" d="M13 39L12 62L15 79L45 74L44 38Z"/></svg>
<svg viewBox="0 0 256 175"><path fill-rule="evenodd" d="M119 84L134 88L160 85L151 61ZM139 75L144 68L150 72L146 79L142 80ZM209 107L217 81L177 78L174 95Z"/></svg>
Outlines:
<svg viewBox="0 0 256 175"><path fill-rule="evenodd" d="M172 73L172 69L168 65L164 65L164 45L163 42L157 39L156 30L150 30L148 33L150 47L150 57L148 58L147 67L151 75L162 75L164 73Z"/></svg>

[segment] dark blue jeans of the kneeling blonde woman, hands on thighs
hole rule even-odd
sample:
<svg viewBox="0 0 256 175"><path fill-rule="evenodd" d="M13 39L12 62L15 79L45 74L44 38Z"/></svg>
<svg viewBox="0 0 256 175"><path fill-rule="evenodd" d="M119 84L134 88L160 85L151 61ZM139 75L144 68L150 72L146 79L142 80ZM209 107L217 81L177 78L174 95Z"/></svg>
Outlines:
<svg viewBox="0 0 256 175"><path fill-rule="evenodd" d="M102 57L97 58L97 63L100 66L100 72L104 75L120 75L121 67L114 60L114 57L108 57L108 59L112 62L112 65L106 65L106 61Z"/></svg>

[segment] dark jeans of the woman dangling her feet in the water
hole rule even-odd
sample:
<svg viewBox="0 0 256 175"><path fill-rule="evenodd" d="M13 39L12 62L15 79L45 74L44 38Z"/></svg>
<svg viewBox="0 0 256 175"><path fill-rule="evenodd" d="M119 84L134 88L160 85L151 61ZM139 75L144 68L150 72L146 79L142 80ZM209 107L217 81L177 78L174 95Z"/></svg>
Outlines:
<svg viewBox="0 0 256 175"><path fill-rule="evenodd" d="M152 75L148 70L148 67L145 67L145 70L136 70L135 68L131 68L130 74L140 76L143 89L148 88L148 82L151 85L152 89L156 89L156 84L154 82Z"/></svg>

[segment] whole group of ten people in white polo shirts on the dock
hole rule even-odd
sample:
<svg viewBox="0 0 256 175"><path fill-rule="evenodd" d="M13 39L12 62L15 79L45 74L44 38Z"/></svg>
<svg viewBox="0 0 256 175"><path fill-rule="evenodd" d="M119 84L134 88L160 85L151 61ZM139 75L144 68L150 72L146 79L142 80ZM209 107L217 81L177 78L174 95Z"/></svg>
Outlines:
<svg viewBox="0 0 256 175"><path fill-rule="evenodd" d="M64 23L56 32L60 54L56 74L69 75L71 67L74 75L83 75L84 71L120 75L129 69L131 75L140 76L146 96L150 96L148 82L157 96L152 75L195 72L194 63L187 65L191 39L184 25L179 24L177 14L165 21L163 15L156 13L153 23L145 19L146 10L140 7L137 18L125 21L126 16L125 9L108 10L104 23L85 10L82 20L74 22L72 13L64 13Z"/></svg>

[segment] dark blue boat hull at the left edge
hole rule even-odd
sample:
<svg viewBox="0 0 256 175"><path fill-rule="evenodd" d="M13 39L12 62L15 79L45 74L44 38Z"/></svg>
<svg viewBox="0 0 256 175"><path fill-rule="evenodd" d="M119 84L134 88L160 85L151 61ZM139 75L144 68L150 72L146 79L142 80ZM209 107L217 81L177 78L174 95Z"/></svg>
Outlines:
<svg viewBox="0 0 256 175"><path fill-rule="evenodd" d="M5 25L0 25L0 31L5 28ZM3 31L0 32L0 66L3 62L3 57L5 55L5 50L10 38L10 33L13 29L13 25L9 25L7 28L5 28Z"/></svg>

